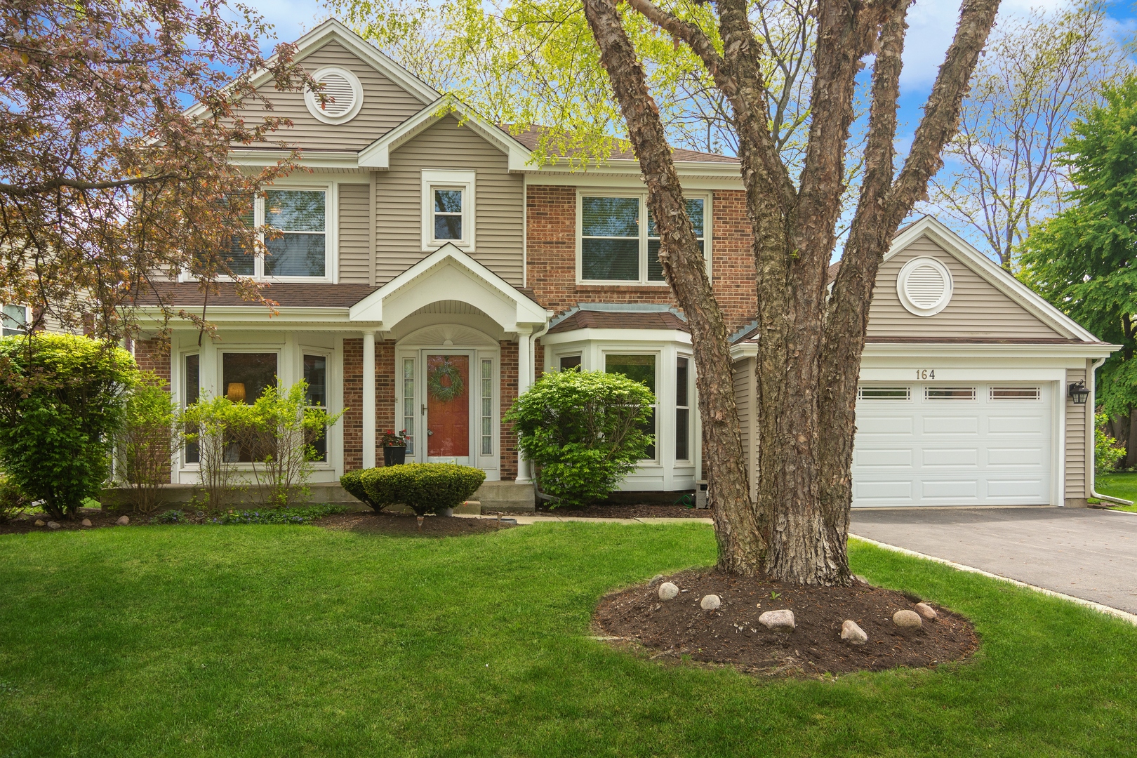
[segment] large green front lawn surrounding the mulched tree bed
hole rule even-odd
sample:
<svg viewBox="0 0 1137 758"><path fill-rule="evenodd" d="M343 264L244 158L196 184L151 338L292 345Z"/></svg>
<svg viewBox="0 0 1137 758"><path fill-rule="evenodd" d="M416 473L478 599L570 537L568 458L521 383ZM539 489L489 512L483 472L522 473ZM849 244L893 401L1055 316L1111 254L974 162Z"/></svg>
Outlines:
<svg viewBox="0 0 1137 758"><path fill-rule="evenodd" d="M853 543L969 615L938 670L766 681L588 639L706 526L428 540L310 526L0 536L0 756L1131 755L1137 628Z"/></svg>

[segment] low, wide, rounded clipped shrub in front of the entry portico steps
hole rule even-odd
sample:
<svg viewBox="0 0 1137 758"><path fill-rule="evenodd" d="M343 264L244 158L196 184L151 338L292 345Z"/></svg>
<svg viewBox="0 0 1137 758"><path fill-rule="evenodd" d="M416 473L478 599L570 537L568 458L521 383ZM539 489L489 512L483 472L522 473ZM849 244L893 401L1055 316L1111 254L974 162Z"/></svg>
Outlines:
<svg viewBox="0 0 1137 758"><path fill-rule="evenodd" d="M456 464L405 464L360 475L373 508L402 503L420 516L460 506L485 481L485 472Z"/></svg>

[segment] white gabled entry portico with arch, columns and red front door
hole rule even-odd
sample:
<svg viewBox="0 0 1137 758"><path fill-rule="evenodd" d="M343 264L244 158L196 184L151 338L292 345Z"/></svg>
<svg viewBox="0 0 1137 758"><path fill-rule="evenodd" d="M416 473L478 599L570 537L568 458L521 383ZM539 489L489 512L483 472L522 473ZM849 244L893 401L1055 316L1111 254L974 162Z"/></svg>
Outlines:
<svg viewBox="0 0 1137 758"><path fill-rule="evenodd" d="M445 299L440 299L440 294ZM454 461L488 481L529 482L503 452L503 409L533 382L533 340L551 317L524 292L447 244L350 308L363 328L363 467L376 463L376 338L393 345L393 426L407 460ZM387 368L387 367L383 367ZM385 414L384 414L385 416Z"/></svg>

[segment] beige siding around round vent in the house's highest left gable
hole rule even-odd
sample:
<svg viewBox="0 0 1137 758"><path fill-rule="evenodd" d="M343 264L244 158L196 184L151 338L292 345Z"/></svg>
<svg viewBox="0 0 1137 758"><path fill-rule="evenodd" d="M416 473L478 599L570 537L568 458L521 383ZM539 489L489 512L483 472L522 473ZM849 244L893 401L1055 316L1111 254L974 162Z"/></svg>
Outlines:
<svg viewBox="0 0 1137 758"><path fill-rule="evenodd" d="M363 85L363 106L346 124L325 124L308 113L302 92L277 92L272 83L265 84L259 91L272 101L273 110L265 111L257 105L240 109L238 114L254 119L263 116L292 119L292 126L274 132L272 140L284 140L306 150L362 150L424 107L417 98L339 42L329 42L313 51L302 64L309 72L339 66L355 74Z"/></svg>

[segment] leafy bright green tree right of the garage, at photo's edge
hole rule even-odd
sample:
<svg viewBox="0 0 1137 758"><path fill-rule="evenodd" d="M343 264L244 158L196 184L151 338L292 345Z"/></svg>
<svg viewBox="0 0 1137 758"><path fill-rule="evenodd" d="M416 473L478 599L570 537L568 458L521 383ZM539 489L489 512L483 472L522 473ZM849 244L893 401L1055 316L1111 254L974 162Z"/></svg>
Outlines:
<svg viewBox="0 0 1137 758"><path fill-rule="evenodd" d="M1097 372L1102 407L1137 406L1137 76L1103 90L1061 151L1074 189L1022 245L1022 280L1099 339L1122 345Z"/></svg>

